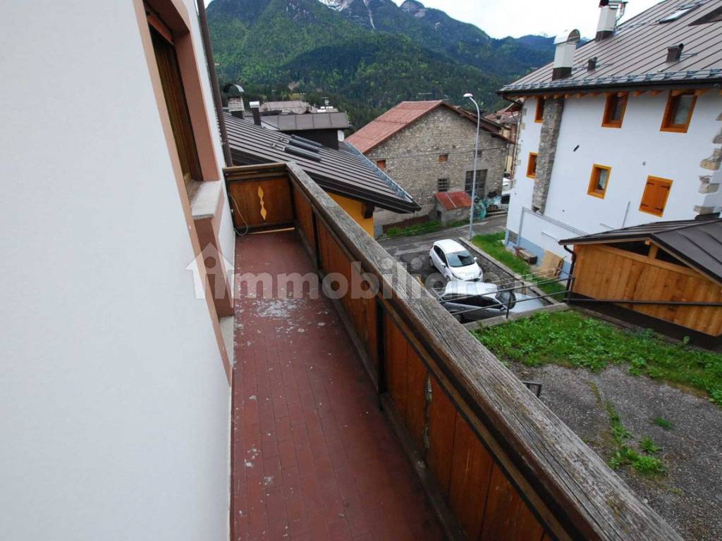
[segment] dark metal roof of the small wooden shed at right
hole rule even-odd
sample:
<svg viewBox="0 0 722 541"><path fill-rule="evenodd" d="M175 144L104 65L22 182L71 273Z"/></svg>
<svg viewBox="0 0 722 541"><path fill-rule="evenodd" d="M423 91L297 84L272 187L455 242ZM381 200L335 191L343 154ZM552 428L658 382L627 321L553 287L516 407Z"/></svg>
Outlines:
<svg viewBox="0 0 722 541"><path fill-rule="evenodd" d="M560 245L651 240L710 278L722 283L722 220L658 221L574 239Z"/></svg>

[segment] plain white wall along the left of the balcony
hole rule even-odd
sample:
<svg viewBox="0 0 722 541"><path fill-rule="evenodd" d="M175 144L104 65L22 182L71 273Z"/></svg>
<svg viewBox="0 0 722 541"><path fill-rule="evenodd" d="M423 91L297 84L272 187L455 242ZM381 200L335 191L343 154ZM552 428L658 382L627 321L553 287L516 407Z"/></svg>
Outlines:
<svg viewBox="0 0 722 541"><path fill-rule="evenodd" d="M0 539L227 539L229 388L134 8L9 2L0 50Z"/></svg>

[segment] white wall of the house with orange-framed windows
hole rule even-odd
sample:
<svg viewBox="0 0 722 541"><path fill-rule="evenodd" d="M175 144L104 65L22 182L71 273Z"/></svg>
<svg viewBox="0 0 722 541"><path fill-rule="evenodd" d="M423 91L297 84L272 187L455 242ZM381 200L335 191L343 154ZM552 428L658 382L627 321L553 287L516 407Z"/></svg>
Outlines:
<svg viewBox="0 0 722 541"><path fill-rule="evenodd" d="M700 162L718 146L713 139L722 129L718 120L722 97L716 90L703 94L697 100L689 131L669 133L660 131L667 96L666 92L630 96L624 123L618 129L601 127L603 95L567 99L545 216L594 233L652 221L694 219L695 206L722 206L722 192L700 193L701 175L711 175L713 182L719 182L719 172L702 169ZM513 232L518 232L521 208L531 206L534 181L526 177L526 160L530 151L539 148L541 129L541 124L534 123L536 99L527 100L524 109L521 163L508 219L508 229ZM593 164L612 167L604 199L587 194ZM673 180L661 217L639 210L650 175ZM533 221L526 221L523 238L549 249L543 234L546 229L531 226ZM565 255L561 247L555 251Z"/></svg>

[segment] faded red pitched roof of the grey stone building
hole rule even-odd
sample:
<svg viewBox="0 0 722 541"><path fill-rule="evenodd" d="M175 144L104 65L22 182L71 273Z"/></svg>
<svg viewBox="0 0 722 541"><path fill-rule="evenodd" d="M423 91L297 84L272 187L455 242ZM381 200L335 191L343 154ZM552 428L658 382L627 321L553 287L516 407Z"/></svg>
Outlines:
<svg viewBox="0 0 722 541"><path fill-rule="evenodd" d="M477 122L477 115L473 115L469 113L469 111L461 109L461 107L454 107L443 100L401 102L399 105L396 105L396 107L389 109L386 113L383 113L383 115L380 115L380 117L372 120L359 131L349 136L346 141L365 154L383 143L383 141L386 141L386 139L399 133L399 131L408 128L433 110L437 110L439 107L446 107L454 113L471 120L471 122ZM495 136L504 138L500 135L500 126L497 123L482 118L482 129Z"/></svg>

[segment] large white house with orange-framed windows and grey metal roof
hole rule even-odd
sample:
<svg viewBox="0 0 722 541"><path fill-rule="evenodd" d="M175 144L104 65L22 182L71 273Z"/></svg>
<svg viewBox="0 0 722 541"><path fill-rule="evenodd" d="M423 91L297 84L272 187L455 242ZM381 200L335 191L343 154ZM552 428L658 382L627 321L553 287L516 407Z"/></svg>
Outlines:
<svg viewBox="0 0 722 541"><path fill-rule="evenodd" d="M722 0L668 0L596 39L557 38L554 63L503 87L523 102L507 243L560 239L722 208Z"/></svg>

